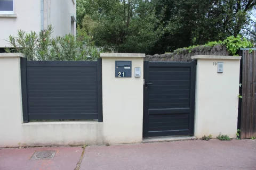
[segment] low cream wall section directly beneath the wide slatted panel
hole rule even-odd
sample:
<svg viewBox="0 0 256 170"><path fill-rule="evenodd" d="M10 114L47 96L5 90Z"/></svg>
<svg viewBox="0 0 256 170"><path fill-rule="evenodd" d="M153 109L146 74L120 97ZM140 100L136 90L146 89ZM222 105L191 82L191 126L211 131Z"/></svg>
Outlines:
<svg viewBox="0 0 256 170"><path fill-rule="evenodd" d="M102 145L103 123L99 122L35 122L22 124L24 145Z"/></svg>

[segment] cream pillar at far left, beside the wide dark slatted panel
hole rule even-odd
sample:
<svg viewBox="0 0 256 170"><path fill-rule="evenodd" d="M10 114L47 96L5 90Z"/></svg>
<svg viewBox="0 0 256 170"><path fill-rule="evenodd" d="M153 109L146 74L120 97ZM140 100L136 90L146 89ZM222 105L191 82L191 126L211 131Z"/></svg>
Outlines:
<svg viewBox="0 0 256 170"><path fill-rule="evenodd" d="M23 54L0 54L0 147L22 142L20 57Z"/></svg>

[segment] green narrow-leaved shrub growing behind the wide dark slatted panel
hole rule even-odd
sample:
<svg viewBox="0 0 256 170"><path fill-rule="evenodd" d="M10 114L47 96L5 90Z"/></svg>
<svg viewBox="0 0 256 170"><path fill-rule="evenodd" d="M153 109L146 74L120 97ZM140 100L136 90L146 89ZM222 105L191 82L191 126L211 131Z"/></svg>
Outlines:
<svg viewBox="0 0 256 170"><path fill-rule="evenodd" d="M37 35L35 31L26 33L18 30L18 36L9 36L11 48L7 53L23 53L30 61L86 61L97 60L100 55L90 36L77 29L77 35L52 38L51 25Z"/></svg>

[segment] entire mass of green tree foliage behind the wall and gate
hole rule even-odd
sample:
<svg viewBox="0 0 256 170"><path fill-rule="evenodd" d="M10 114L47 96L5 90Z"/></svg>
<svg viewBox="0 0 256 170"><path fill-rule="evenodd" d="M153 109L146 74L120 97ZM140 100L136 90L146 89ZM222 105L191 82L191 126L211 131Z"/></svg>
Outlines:
<svg viewBox="0 0 256 170"><path fill-rule="evenodd" d="M77 21L106 50L164 53L245 35L254 0L77 0ZM253 33L253 31L252 31Z"/></svg>

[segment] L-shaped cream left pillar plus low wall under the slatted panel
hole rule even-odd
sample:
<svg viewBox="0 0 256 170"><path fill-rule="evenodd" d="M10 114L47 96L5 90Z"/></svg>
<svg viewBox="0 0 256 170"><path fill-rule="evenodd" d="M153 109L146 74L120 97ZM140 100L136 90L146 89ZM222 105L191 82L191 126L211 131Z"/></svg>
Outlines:
<svg viewBox="0 0 256 170"><path fill-rule="evenodd" d="M99 122L23 123L20 57L0 54L0 148L103 144Z"/></svg>

